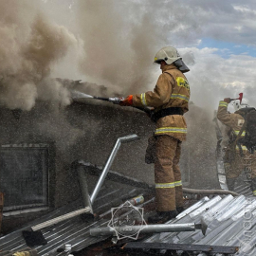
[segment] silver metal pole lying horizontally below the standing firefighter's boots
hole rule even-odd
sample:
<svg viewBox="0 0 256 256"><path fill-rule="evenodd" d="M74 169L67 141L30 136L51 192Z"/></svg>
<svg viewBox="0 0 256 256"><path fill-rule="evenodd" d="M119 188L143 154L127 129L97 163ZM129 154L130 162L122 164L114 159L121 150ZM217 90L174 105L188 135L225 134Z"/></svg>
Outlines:
<svg viewBox="0 0 256 256"><path fill-rule="evenodd" d="M194 223L186 224L158 224L158 225L141 225L141 226L123 226L115 229L111 227L90 229L91 236L115 235L116 232L125 233L161 233L161 232L180 232L180 231L194 231L201 229L201 226Z"/></svg>

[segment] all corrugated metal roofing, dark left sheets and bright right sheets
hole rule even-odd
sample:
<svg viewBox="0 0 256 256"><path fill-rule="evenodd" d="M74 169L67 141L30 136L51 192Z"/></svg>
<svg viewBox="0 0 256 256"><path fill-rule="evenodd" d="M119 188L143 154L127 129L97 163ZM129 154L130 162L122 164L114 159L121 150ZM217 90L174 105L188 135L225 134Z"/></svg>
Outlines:
<svg viewBox="0 0 256 256"><path fill-rule="evenodd" d="M139 193L141 190L139 191ZM101 196L107 196L112 191L102 190ZM127 188L117 189L116 194L127 193L134 196L138 193L136 189ZM106 202L106 201L105 201ZM107 202L106 202L107 204ZM108 204L109 210L111 206ZM98 202L98 208L101 204ZM140 206L141 207L141 206ZM142 206L143 207L143 206ZM58 215L77 209L78 205L73 204L68 208L56 210L46 217L34 222L40 223L46 219L53 218ZM108 211L102 215L106 215ZM169 243L169 244L184 244L184 245L209 245L209 246L227 246L240 247L235 255L239 256L254 256L256 255L256 198L240 195L233 197L214 196L203 197L200 201L193 204L187 210L181 212L175 219L168 224L183 224L183 223L200 223L204 220L208 225L206 235L203 235L201 230L182 231L182 232L163 232L154 234L141 242L144 243ZM97 242L105 240L106 237L91 237L89 230L96 227L107 226L109 220L101 219L96 222L84 222L80 217L75 217L64 223L60 223L53 227L43 229L43 234L47 240L46 246L35 247L39 255L61 255L64 252L57 252L58 248L64 248L64 245L72 246L72 251L79 251L84 247L88 247ZM30 223L31 225L34 225ZM30 227L29 226L29 227ZM27 229L27 228L24 228ZM5 237L0 238L0 248L2 250L17 250L26 247L25 241L21 235L21 230L17 230ZM140 242L137 242L140 243ZM161 251L164 253L164 250ZM193 255L206 256L205 253L194 252ZM212 254L222 256L222 254Z"/></svg>

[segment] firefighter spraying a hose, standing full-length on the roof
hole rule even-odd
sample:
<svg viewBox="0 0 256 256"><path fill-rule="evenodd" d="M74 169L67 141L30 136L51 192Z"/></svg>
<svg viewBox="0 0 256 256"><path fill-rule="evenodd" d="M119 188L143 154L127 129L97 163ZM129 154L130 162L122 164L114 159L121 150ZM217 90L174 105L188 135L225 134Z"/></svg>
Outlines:
<svg viewBox="0 0 256 256"><path fill-rule="evenodd" d="M190 85L183 73L190 71L172 46L155 54L162 74L154 91L130 95L120 105L154 107L155 110L155 206L150 223L174 218L183 210L181 174L178 166L181 142L187 125L183 114L189 111Z"/></svg>

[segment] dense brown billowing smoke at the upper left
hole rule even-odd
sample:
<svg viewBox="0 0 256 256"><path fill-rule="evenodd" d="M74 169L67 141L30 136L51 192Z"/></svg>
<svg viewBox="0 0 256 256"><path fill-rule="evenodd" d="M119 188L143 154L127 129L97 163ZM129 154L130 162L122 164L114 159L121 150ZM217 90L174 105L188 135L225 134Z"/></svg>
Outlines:
<svg viewBox="0 0 256 256"><path fill-rule="evenodd" d="M23 110L36 100L69 104L67 88L50 75L78 40L65 27L49 23L31 1L2 0L0 5L0 104Z"/></svg>

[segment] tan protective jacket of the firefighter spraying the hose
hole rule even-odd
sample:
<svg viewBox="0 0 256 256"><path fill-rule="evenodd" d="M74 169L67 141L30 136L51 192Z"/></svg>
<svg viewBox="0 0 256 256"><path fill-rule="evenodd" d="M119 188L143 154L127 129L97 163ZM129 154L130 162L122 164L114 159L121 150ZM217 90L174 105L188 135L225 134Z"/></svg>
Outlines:
<svg viewBox="0 0 256 256"><path fill-rule="evenodd" d="M184 74L174 64L166 64L156 82L154 91L133 95L133 105L154 107L155 112L169 107L189 111L190 85ZM170 115L155 124L155 136L168 135L180 141L186 140L187 124L183 116Z"/></svg>

